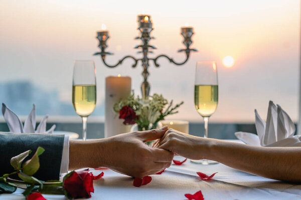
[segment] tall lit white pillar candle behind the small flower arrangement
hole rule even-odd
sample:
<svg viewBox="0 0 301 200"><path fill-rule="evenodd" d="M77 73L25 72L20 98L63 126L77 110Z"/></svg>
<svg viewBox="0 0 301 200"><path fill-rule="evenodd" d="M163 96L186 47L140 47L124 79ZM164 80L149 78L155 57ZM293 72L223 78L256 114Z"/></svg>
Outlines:
<svg viewBox="0 0 301 200"><path fill-rule="evenodd" d="M130 131L131 125L124 125L123 119L113 111L113 105L131 92L131 78L109 76L105 78L105 124L104 137L111 137Z"/></svg>

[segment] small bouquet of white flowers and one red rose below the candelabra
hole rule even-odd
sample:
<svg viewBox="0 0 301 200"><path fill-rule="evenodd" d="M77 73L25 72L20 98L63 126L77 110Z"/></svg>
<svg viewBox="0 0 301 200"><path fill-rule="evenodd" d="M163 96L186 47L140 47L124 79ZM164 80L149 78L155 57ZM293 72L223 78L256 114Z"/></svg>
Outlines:
<svg viewBox="0 0 301 200"><path fill-rule="evenodd" d="M120 99L113 105L119 119L124 119L123 124L137 124L138 130L149 130L157 127L158 122L166 116L178 113L184 102L173 106L173 100L168 102L162 95L154 94L148 99L142 99L131 93L128 97ZM168 106L167 106L168 105ZM166 107L167 106L167 107Z"/></svg>

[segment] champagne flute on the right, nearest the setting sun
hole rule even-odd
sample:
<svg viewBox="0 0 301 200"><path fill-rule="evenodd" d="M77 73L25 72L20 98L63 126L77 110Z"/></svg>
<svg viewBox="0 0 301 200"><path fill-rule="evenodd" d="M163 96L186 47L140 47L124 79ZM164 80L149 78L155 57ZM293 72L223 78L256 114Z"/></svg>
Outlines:
<svg viewBox="0 0 301 200"><path fill-rule="evenodd" d="M205 134L208 137L209 117L215 112L218 102L217 67L215 61L198 61L195 77L195 107L203 117ZM193 160L202 164L217 163L213 160Z"/></svg>

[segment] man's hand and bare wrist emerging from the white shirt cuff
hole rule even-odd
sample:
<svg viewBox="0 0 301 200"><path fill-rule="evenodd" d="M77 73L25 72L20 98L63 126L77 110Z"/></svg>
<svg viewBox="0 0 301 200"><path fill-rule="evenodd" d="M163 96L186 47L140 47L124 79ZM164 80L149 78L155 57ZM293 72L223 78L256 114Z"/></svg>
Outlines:
<svg viewBox="0 0 301 200"><path fill-rule="evenodd" d="M167 127L163 127L98 140L71 140L69 170L104 166L134 177L162 171L171 165L174 153L148 147L144 142L159 139L166 131Z"/></svg>

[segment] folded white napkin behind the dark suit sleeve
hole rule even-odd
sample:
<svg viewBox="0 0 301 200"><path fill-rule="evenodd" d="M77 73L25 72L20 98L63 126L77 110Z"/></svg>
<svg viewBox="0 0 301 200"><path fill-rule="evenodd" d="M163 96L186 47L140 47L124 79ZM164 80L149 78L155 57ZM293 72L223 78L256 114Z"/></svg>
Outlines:
<svg viewBox="0 0 301 200"><path fill-rule="evenodd" d="M19 119L19 117L9 109L4 103L2 103L2 114L9 129L13 133L53 133L55 125L53 125L49 130L46 131L46 121L48 115L46 115L40 122L36 130L36 106L33 105L32 111L29 113L28 117L24 122L24 126Z"/></svg>

